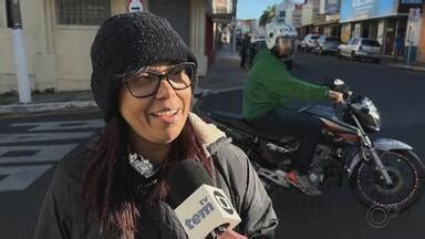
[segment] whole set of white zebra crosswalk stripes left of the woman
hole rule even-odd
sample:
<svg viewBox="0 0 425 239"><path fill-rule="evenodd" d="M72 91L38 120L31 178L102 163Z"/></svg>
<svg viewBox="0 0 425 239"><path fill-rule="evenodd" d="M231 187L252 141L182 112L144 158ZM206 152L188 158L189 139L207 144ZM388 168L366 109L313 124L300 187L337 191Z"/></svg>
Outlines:
<svg viewBox="0 0 425 239"><path fill-rule="evenodd" d="M0 134L0 191L25 190L54 163L70 154L83 138L103 127L101 119L58 121L12 124L10 127L29 127L22 133ZM63 131L85 132L63 132ZM90 132L87 132L90 129ZM56 131L48 132L46 131ZM62 131L62 132L61 132ZM53 142L52 144L45 142ZM74 144L61 144L73 141ZM39 145L13 145L29 142L44 142ZM37 163L37 165L35 165ZM44 164L43 164L44 163ZM14 164L13 166L2 164ZM25 164L25 165L19 165Z"/></svg>

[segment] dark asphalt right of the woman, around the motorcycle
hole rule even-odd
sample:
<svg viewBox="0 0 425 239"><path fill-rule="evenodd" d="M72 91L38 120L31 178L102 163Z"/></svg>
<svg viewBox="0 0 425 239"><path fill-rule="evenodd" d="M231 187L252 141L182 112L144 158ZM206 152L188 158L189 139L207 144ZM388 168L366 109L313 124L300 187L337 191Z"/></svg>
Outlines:
<svg viewBox="0 0 425 239"><path fill-rule="evenodd" d="M322 83L342 79L354 92L367 95L380 108L383 127L379 136L408 143L425 157L425 73L396 70L384 64L351 62L334 56L299 54L293 74L304 81ZM201 110L240 113L242 91L224 92L205 98ZM229 100L231 98L231 101ZM423 238L425 199L410 210L390 215L388 224L374 228L369 208L360 205L345 181L340 188L329 181L320 197L308 197L293 189L273 188L270 196L280 220L277 238ZM372 210L371 210L372 211ZM384 222L382 214L372 214Z"/></svg>

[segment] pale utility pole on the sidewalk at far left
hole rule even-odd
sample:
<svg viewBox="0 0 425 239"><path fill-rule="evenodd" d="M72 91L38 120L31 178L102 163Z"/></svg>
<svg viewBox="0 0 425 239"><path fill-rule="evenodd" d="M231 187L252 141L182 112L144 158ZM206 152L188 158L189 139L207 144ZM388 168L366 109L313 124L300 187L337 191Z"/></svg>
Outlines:
<svg viewBox="0 0 425 239"><path fill-rule="evenodd" d="M19 0L6 0L6 13L8 19L8 28L12 29L12 43L18 77L19 102L23 104L31 103L31 86L28 75L27 55L23 44L22 19Z"/></svg>

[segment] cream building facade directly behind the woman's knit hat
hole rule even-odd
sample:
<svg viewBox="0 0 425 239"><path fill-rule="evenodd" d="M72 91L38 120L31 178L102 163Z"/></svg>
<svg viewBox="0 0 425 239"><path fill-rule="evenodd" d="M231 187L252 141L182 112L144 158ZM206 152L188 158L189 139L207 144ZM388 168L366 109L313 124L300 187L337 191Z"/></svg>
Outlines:
<svg viewBox="0 0 425 239"><path fill-rule="evenodd" d="M0 0L0 93L17 91L11 30L4 1ZM21 1L24 48L31 89L79 91L90 89L90 48L100 24L108 17L128 12L128 0ZM141 0L144 11L165 17L198 60L206 75L214 51L211 0ZM231 1L235 3L236 1ZM236 6L236 4L235 4Z"/></svg>

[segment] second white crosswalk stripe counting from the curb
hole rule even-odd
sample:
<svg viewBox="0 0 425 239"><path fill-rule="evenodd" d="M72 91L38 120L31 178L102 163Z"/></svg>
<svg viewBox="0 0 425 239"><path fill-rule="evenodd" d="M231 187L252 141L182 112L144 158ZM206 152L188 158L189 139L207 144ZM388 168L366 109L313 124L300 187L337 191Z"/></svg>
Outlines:
<svg viewBox="0 0 425 239"><path fill-rule="evenodd" d="M93 132L0 134L0 144L87 138Z"/></svg>

